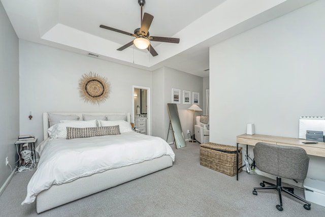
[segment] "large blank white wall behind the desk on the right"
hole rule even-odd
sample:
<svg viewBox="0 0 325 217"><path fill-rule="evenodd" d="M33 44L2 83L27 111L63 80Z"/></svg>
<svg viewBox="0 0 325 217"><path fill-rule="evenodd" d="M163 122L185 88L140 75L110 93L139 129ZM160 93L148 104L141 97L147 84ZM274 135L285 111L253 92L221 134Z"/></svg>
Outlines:
<svg viewBox="0 0 325 217"><path fill-rule="evenodd" d="M298 138L299 116L325 115L325 1L210 48L210 141L255 133ZM325 158L308 177L325 180Z"/></svg>

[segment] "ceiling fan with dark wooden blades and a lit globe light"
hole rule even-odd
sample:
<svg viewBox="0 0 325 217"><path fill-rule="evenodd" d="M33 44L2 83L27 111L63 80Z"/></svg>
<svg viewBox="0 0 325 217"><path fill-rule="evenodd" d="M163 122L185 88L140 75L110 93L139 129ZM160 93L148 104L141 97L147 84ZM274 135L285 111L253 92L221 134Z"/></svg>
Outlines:
<svg viewBox="0 0 325 217"><path fill-rule="evenodd" d="M153 49L153 47L150 44L150 41L154 42L169 42L169 43L179 43L178 38L166 38L166 37L157 37L157 36L150 36L149 35L149 27L151 25L151 22L153 20L153 16L148 13L143 14L142 18L142 7L146 4L145 0L138 0L138 4L141 7L141 27L136 28L134 30L134 34L124 32L123 30L119 30L116 28L112 28L106 25L100 25L101 28L105 28L108 30L112 30L117 33L122 33L128 36L133 36L136 39L133 41L123 45L122 47L118 48L117 50L124 50L125 48L128 48L131 45L135 45L139 49L147 49L152 56L158 55L158 53Z"/></svg>

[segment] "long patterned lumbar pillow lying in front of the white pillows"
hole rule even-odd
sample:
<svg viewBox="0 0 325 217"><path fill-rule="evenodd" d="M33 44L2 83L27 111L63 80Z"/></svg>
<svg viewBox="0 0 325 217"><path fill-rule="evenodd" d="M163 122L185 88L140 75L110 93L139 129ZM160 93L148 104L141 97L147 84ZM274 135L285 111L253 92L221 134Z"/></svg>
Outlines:
<svg viewBox="0 0 325 217"><path fill-rule="evenodd" d="M96 127L96 128L71 128L67 127L67 139L88 138L93 136L106 136L120 134L117 126Z"/></svg>

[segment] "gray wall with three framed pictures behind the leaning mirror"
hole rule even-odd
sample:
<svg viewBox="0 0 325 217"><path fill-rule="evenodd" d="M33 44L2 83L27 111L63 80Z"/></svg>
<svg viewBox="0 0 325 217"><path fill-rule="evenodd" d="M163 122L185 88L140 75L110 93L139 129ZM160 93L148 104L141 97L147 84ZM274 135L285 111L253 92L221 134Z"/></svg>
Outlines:
<svg viewBox="0 0 325 217"><path fill-rule="evenodd" d="M203 109L203 78L191 75L182 71L164 67L153 72L153 87L155 89L155 96L158 98L153 98L153 135L159 135L163 139L167 139L168 128L169 128L169 114L167 109L167 103L172 103L172 88L181 90L181 103L177 104L179 118L181 121L181 126L185 139L187 139L187 130L193 132L193 112L188 111L187 108L190 105L183 104L183 90L191 91L191 101L192 92L200 93L200 107ZM163 99L164 101L161 101ZM159 101L159 102L158 102ZM156 116L155 111L159 110L159 116ZM162 115L164 114L164 115ZM202 112L197 112L200 115ZM155 126L159 124L164 126L163 131L158 130ZM155 126L155 127L154 127ZM159 128L161 129L161 127ZM158 130L158 131L157 131ZM173 134L170 131L168 142L173 141Z"/></svg>

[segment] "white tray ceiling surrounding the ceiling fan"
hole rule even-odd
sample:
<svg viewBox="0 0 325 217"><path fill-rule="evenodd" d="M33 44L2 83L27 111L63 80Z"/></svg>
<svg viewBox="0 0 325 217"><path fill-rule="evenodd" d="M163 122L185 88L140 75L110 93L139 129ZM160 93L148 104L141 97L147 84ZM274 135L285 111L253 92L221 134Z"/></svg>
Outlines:
<svg viewBox="0 0 325 217"><path fill-rule="evenodd" d="M146 0L154 16L151 36L180 38L179 44L151 42L159 55L133 46L140 27L138 0L1 0L19 39L153 71L162 66L209 76L209 47L315 0Z"/></svg>

